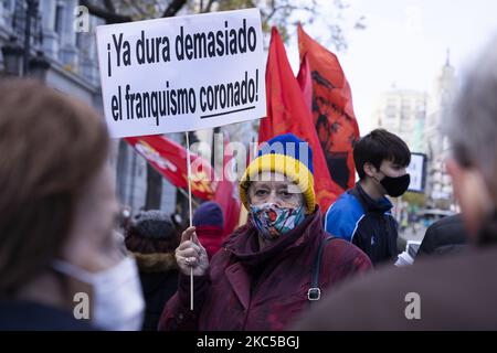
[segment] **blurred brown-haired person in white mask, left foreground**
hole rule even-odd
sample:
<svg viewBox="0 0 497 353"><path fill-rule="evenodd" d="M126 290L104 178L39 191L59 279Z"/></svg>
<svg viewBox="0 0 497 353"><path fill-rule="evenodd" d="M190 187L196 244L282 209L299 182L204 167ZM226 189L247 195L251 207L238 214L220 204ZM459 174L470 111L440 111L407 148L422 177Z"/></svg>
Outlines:
<svg viewBox="0 0 497 353"><path fill-rule="evenodd" d="M3 81L0 107L0 330L139 329L103 119L31 81Z"/></svg>

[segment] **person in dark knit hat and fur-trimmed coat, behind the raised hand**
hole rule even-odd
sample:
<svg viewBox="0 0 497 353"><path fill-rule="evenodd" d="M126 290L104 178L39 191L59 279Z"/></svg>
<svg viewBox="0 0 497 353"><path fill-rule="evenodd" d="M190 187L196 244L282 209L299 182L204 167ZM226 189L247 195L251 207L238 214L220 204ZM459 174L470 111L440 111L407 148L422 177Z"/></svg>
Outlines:
<svg viewBox="0 0 497 353"><path fill-rule="evenodd" d="M125 243L140 275L146 302L144 330L157 330L163 306L178 289L175 250L179 240L171 217L159 210L141 211L129 222Z"/></svg>

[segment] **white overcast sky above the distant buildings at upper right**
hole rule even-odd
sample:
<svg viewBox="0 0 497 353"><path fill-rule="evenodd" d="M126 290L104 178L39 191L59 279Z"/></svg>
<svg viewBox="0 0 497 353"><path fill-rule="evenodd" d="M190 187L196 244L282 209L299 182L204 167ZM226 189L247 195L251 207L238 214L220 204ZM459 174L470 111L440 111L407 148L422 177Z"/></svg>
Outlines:
<svg viewBox="0 0 497 353"><path fill-rule="evenodd" d="M322 13L331 10L322 0ZM371 121L378 96L394 84L398 88L430 92L445 63L464 77L475 56L497 35L497 1L494 0L348 0L345 12L349 49L339 53L352 88L361 135ZM352 21L366 17L367 29L351 30ZM305 28L313 38L326 30L319 21ZM287 44L296 69L296 35Z"/></svg>

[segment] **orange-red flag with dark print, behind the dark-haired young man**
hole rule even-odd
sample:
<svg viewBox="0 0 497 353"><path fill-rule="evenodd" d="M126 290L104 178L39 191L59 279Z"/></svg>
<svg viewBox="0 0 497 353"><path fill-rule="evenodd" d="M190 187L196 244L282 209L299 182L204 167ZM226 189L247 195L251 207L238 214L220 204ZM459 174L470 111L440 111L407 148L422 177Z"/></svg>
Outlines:
<svg viewBox="0 0 497 353"><path fill-rule="evenodd" d="M313 78L313 118L334 183L346 191L356 182L353 142L359 127L350 86L335 54L298 25L300 60L308 60Z"/></svg>

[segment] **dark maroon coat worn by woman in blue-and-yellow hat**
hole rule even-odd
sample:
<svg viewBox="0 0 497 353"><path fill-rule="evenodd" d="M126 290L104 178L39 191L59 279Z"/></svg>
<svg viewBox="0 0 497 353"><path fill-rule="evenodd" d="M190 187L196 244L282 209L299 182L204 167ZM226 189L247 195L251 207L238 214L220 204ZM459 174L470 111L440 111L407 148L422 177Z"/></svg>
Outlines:
<svg viewBox="0 0 497 353"><path fill-rule="evenodd" d="M180 276L178 292L166 304L159 330L287 328L309 309L313 263L327 236L317 210L297 228L258 252L258 234L248 222L212 258L209 275L194 278L193 312L189 310L190 279ZM328 242L322 255L322 297L343 279L372 268L367 255L342 239Z"/></svg>

